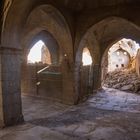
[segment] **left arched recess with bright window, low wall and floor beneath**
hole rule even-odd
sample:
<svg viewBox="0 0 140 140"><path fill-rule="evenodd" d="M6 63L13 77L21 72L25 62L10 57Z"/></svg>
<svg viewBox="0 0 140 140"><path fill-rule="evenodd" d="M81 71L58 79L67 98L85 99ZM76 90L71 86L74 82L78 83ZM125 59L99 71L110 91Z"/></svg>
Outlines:
<svg viewBox="0 0 140 140"><path fill-rule="evenodd" d="M59 103L62 95L61 51L50 38L50 42L44 40L32 43L24 55L26 61L22 64L21 90L26 121L40 118L40 114L48 117L67 107Z"/></svg>

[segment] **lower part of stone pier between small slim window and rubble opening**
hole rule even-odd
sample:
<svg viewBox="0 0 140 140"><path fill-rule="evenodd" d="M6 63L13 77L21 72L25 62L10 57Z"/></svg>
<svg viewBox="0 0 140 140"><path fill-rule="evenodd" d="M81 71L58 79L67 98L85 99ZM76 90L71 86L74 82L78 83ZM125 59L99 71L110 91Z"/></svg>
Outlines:
<svg viewBox="0 0 140 140"><path fill-rule="evenodd" d="M101 66L95 64L93 66L93 89L97 90L101 88Z"/></svg>

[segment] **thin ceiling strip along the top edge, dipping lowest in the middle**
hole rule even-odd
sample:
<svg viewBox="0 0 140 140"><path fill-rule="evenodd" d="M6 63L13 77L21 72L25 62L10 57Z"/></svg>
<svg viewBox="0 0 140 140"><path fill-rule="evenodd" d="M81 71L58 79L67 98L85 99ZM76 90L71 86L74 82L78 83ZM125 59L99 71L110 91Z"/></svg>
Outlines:
<svg viewBox="0 0 140 140"><path fill-rule="evenodd" d="M4 0L7 1L19 1L20 0ZM26 1L29 0L24 0ZM104 6L114 6L114 5L121 5L121 4L138 4L140 3L139 0L30 0L33 3L52 3L58 5L60 7L68 8L69 10L79 11L85 9L94 9L100 8Z"/></svg>

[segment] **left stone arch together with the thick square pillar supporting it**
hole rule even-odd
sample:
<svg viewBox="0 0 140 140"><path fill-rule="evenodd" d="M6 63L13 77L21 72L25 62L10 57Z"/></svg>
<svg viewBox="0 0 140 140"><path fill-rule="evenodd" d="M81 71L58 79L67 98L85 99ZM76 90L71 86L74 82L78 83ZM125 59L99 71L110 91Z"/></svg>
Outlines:
<svg viewBox="0 0 140 140"><path fill-rule="evenodd" d="M73 63L72 37L64 16L58 9L51 5L41 5L35 8L35 4L36 2L34 3L34 1L14 0L3 26L1 34L1 48L3 52L1 63L2 73L5 72L5 75L2 76L2 96L4 97L2 98L5 108L1 108L4 109L4 114L0 116L0 120L4 122L4 125L17 124L23 121L20 84L21 56L23 54L22 50L29 44L31 38L41 31L48 31L57 41L58 46L62 48L63 53L67 54L69 64ZM17 13L16 16L13 16L15 13ZM63 91L61 93L61 99L62 102L72 104L73 79L70 78L72 77L71 72L66 71L65 67L66 65L62 67ZM69 78L70 84L67 82ZM9 83L11 86L8 86ZM10 109L6 105L7 102L11 106Z"/></svg>

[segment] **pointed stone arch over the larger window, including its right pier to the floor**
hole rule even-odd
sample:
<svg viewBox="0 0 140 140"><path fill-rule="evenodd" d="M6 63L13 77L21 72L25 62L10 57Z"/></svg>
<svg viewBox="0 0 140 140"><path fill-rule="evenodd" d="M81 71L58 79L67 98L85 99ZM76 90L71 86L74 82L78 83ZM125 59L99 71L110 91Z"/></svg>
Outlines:
<svg viewBox="0 0 140 140"><path fill-rule="evenodd" d="M30 13L24 28L21 42L23 48L29 44L31 38L41 31L49 32L57 41L62 52L62 101L68 104L73 103L73 43L68 24L63 15L51 5L41 5ZM68 96L70 96L70 98L67 98Z"/></svg>

